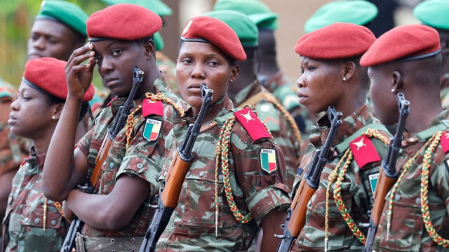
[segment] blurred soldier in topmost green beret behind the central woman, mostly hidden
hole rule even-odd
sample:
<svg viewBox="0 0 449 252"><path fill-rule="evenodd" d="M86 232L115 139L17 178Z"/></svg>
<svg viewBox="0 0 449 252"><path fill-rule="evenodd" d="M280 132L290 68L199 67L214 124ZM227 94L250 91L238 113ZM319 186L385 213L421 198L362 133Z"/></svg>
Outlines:
<svg viewBox="0 0 449 252"><path fill-rule="evenodd" d="M302 139L307 147L308 135L310 127L314 124L316 116L309 114L304 107L297 101L297 86L290 83L283 75L276 61L276 44L274 39L274 31L278 27L277 13L273 13L269 7L259 0L219 0L213 7L214 11L232 10L240 11L248 15L259 29L259 41L257 48L257 77L262 85L267 88L286 107L288 112L300 128Z"/></svg>

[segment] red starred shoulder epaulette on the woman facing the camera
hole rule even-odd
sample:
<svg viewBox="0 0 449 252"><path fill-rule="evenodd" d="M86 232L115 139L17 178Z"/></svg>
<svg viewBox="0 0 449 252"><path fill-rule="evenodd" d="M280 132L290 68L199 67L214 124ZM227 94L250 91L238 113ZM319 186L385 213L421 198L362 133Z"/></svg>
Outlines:
<svg viewBox="0 0 449 252"><path fill-rule="evenodd" d="M254 114L253 110L250 110L249 108L239 110L234 112L234 117L236 117L237 121L239 121L243 128L245 128L253 141L259 140L260 138L272 137L264 124L262 124L262 121L260 121L259 117Z"/></svg>

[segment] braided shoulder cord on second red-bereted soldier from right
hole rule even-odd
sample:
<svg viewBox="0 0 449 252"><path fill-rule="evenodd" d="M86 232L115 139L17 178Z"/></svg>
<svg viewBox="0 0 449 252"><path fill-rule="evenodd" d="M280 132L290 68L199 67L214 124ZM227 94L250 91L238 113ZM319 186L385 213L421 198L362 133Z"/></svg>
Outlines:
<svg viewBox="0 0 449 252"><path fill-rule="evenodd" d="M379 131L368 128L367 131L363 132L361 135L366 135L368 138L377 138L381 140L385 145L389 145L389 139L382 135ZM366 243L365 235L358 229L354 219L352 219L351 214L349 213L347 207L344 205L342 199L342 183L344 180L344 175L346 175L347 168L351 164L352 158L354 155L350 148L344 152L342 159L338 162L335 169L328 176L328 187L326 189L326 219L325 219L325 238L324 238L324 248L325 251L328 251L328 241L329 241L329 201L330 201L330 190L332 189L332 184L334 184L334 201L337 204L338 211L342 215L344 221L347 223L349 229L354 234L354 236L360 241L363 245ZM342 164L344 163L343 167ZM340 168L341 167L341 168Z"/></svg>

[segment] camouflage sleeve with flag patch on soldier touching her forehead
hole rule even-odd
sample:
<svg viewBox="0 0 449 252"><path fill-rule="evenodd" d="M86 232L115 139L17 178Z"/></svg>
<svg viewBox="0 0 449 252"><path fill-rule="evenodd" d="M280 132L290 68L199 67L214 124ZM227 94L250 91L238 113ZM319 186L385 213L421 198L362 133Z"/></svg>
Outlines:
<svg viewBox="0 0 449 252"><path fill-rule="evenodd" d="M172 124L161 117L155 117L154 120L161 121L162 124L158 137L155 140L151 140L152 138L147 140L145 128L152 125L146 119L140 119L135 126L135 131L138 133L131 140L116 175L116 179L125 173L147 180L151 184L151 195L156 194L159 190L159 173L161 173L161 166L165 161L165 140L172 128Z"/></svg>

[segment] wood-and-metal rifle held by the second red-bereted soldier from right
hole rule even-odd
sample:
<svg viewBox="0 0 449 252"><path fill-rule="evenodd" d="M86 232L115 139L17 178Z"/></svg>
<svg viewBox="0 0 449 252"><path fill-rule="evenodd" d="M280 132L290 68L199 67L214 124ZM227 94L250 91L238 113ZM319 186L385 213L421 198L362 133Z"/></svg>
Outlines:
<svg viewBox="0 0 449 252"><path fill-rule="evenodd" d="M338 127L342 124L342 112L336 112L335 108L328 107L330 131L321 150L317 150L311 162L309 171L302 178L293 202L288 208L286 223L281 225L283 234L274 236L281 239L278 252L288 251L293 240L300 235L304 227L307 213L307 202L319 187L321 172L328 161L330 147L334 141ZM300 171L300 169L298 169Z"/></svg>

